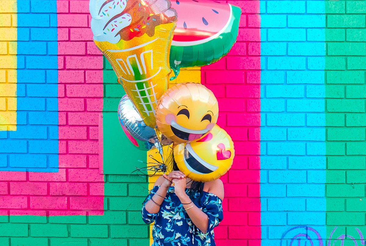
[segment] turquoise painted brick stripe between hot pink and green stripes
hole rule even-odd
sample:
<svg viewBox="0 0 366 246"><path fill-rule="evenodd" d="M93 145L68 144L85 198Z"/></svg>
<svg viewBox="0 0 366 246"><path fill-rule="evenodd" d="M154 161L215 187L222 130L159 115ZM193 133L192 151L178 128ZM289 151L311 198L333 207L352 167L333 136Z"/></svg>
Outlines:
<svg viewBox="0 0 366 246"><path fill-rule="evenodd" d="M261 1L261 13L262 246L306 234L319 245L326 238L324 1Z"/></svg>

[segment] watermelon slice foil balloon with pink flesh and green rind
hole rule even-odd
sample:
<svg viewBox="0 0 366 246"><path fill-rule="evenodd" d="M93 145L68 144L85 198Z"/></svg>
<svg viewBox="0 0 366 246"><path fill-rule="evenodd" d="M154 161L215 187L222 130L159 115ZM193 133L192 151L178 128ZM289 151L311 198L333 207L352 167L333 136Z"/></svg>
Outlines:
<svg viewBox="0 0 366 246"><path fill-rule="evenodd" d="M236 41L241 10L209 0L171 0L178 14L170 48L170 67L201 67L220 60ZM172 77L174 79L175 77Z"/></svg>

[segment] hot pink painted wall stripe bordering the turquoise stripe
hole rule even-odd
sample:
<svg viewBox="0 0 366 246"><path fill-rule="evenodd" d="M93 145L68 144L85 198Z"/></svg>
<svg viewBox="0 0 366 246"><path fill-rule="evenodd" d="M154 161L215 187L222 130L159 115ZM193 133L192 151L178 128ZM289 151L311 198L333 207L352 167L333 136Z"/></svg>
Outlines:
<svg viewBox="0 0 366 246"><path fill-rule="evenodd" d="M218 124L229 133L235 146L232 168L221 178L225 188L224 220L215 228L215 242L220 246L259 246L259 1L232 1L232 4L241 7L243 12L237 42L227 56L201 69L202 84L219 101Z"/></svg>

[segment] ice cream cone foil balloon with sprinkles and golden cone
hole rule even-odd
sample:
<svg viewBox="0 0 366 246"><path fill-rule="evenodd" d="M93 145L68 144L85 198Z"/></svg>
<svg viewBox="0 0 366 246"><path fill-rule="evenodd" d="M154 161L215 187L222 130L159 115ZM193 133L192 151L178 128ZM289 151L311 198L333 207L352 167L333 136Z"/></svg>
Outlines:
<svg viewBox="0 0 366 246"><path fill-rule="evenodd" d="M176 12L169 0L90 0L94 42L107 57L143 121L155 127L167 90Z"/></svg>

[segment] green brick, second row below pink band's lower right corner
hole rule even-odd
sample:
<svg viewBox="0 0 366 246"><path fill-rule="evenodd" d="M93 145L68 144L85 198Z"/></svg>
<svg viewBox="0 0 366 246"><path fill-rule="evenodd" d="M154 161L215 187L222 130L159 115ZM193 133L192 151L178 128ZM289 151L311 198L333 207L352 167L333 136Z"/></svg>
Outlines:
<svg viewBox="0 0 366 246"><path fill-rule="evenodd" d="M71 236L75 238L107 238L108 226L96 225L71 225Z"/></svg>

